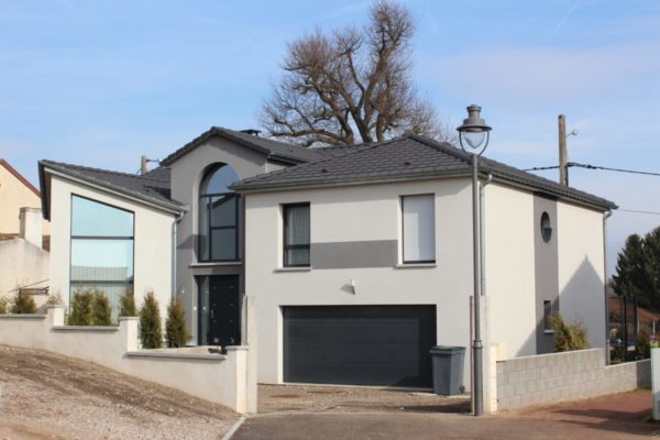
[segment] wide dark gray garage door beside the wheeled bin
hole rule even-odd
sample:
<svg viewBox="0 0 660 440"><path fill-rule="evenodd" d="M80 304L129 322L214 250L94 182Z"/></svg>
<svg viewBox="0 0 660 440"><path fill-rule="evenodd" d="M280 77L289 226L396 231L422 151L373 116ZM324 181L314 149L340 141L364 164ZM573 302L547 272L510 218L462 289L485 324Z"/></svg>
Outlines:
<svg viewBox="0 0 660 440"><path fill-rule="evenodd" d="M436 306L285 307L284 381L430 387Z"/></svg>

